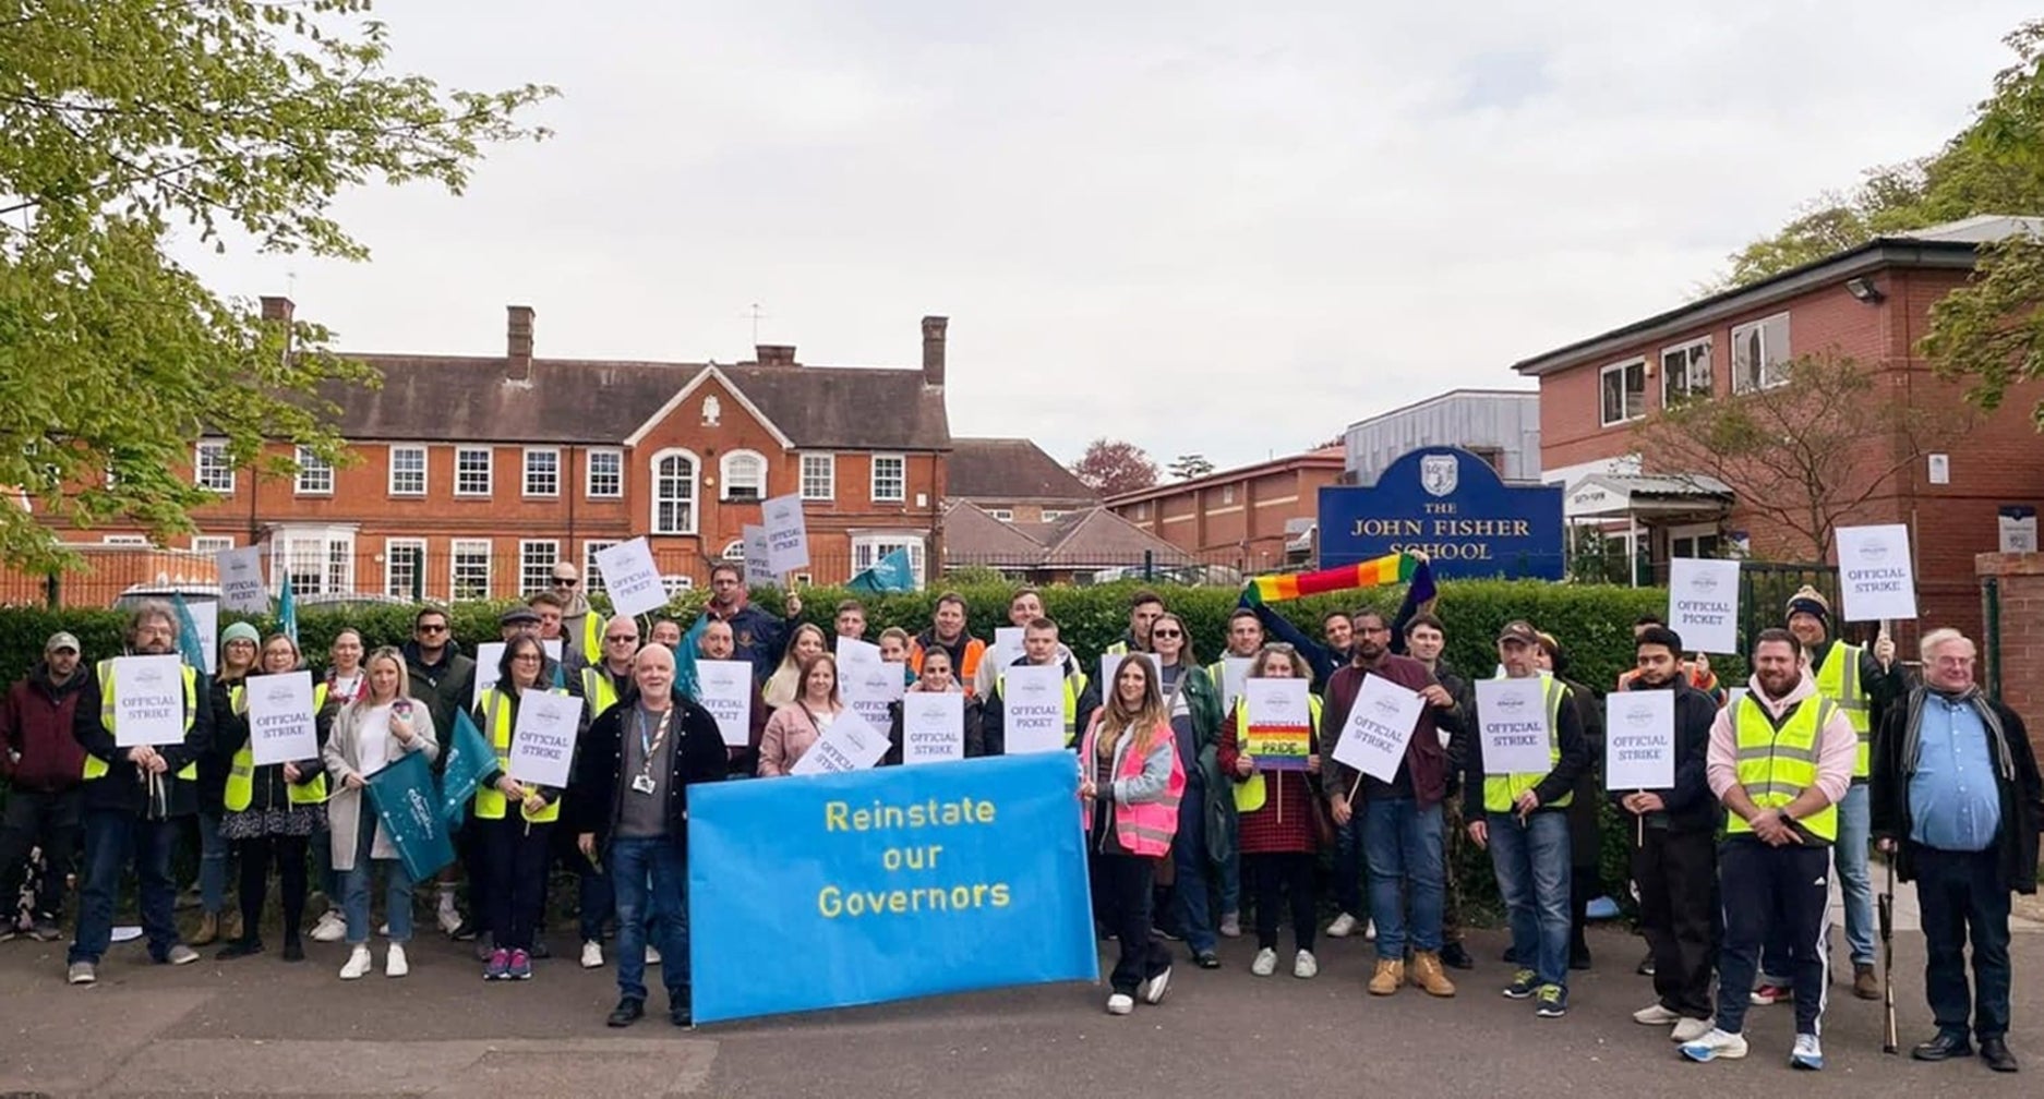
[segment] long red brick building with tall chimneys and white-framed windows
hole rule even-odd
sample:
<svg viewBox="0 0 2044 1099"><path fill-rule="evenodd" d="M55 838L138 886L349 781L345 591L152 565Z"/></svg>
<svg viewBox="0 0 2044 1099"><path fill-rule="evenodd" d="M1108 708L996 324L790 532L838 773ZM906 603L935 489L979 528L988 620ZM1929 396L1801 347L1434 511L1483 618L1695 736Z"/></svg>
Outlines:
<svg viewBox="0 0 2044 1099"><path fill-rule="evenodd" d="M264 300L272 319L290 308ZM644 533L679 588L742 560L762 498L801 492L814 582L899 545L920 578L946 492L944 335L924 317L908 370L805 366L791 345L742 364L595 362L540 357L533 310L509 306L501 355L350 353L382 372L378 390L329 394L352 464L300 456L294 480L258 482L200 439L192 476L219 503L172 550L268 543L272 584L288 572L300 594L474 599L542 588L554 562L587 572Z"/></svg>

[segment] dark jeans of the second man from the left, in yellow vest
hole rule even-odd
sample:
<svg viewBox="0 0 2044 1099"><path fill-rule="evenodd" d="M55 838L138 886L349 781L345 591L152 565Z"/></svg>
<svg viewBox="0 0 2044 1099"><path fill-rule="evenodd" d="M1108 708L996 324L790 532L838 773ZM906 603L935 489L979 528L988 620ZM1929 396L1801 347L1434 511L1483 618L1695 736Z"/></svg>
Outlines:
<svg viewBox="0 0 2044 1099"><path fill-rule="evenodd" d="M67 962L98 964L114 936L114 899L121 874L135 864L141 929L149 936L149 958L161 962L178 946L172 907L178 887L170 880L170 850L178 846L178 821L145 821L123 809L86 809L86 866L78 889L78 940Z"/></svg>

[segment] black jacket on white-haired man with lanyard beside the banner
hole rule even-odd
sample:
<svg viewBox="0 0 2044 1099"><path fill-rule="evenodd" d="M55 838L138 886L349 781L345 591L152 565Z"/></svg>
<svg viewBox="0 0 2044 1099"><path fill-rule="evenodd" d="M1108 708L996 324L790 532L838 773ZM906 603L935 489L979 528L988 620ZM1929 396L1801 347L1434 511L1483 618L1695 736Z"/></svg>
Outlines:
<svg viewBox="0 0 2044 1099"><path fill-rule="evenodd" d="M595 833L597 844L607 844L623 813L628 793L625 727L638 707L638 690L625 695L615 707L597 715L583 733L574 752L574 776L568 784L566 815L576 833ZM675 715L679 725L670 729L675 737L672 774L660 784L666 791L666 835L689 850L689 786L695 782L724 780L724 735L717 733L717 719L707 709L675 690Z"/></svg>

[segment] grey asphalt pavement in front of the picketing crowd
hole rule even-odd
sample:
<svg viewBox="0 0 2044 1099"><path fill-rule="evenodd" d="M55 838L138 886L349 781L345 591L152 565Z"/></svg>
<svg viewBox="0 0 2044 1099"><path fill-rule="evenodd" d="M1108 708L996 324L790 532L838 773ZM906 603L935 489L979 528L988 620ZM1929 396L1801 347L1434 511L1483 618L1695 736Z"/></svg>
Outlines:
<svg viewBox="0 0 2044 1099"><path fill-rule="evenodd" d="M1901 907L1901 905L1899 905ZM1903 907L1913 917L1913 905ZM1756 1007L1752 1056L1686 1064L1662 1028L1631 1021L1652 1001L1633 974L1637 938L1592 929L1596 968L1572 976L1566 1019L1535 1019L1498 989L1498 931L1470 936L1478 968L1455 999L1363 993L1374 946L1322 940L1320 976L1249 974L1253 944L1224 940L1224 968L1181 964L1167 1001L1102 1011L1104 989L1049 985L677 1030L660 993L638 1025L607 1030L613 970L566 950L529 983L484 985L466 944L411 950L403 981L335 972L339 944L307 944L192 966L151 966L117 946L100 983L63 985L61 944L0 944L0 1097L16 1095L717 1095L1047 1099L1085 1095L1502 1095L1568 1099L1711 1095L2038 1095L2044 1077L2044 934L2019 929L2011 1046L2026 1072L1979 1060L1917 1064L1880 1054L1880 1003L1831 987L1821 1074L1786 1066L1793 1015ZM566 948L568 942L556 942ZM1901 1040L1930 1036L1921 936L1895 938ZM748 948L799 950L799 944ZM1002 944L985 944L1000 950ZM1284 950L1290 952L1290 936ZM1104 944L1102 970L1114 944ZM1286 962L1290 956L1286 954ZM648 974L652 976L652 974ZM648 981L658 987L658 981Z"/></svg>

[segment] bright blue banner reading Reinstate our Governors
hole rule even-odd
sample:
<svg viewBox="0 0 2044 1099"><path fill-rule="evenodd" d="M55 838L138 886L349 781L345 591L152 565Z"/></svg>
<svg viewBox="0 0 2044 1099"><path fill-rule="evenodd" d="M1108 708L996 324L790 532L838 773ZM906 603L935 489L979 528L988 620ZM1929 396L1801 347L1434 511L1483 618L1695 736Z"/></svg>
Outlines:
<svg viewBox="0 0 2044 1099"><path fill-rule="evenodd" d="M1096 981L1071 754L689 789L695 1019Z"/></svg>

